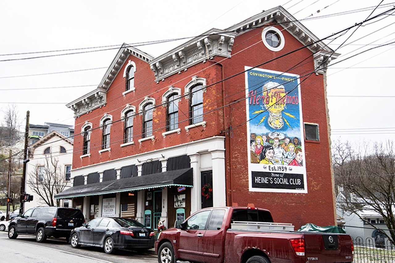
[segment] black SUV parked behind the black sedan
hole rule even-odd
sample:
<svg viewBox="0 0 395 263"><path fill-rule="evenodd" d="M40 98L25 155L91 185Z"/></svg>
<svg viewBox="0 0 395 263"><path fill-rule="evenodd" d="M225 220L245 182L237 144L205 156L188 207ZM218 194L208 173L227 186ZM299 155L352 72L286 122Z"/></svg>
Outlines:
<svg viewBox="0 0 395 263"><path fill-rule="evenodd" d="M16 239L18 234L35 235L37 242L47 237L66 237L69 242L71 230L85 223L81 210L66 207L34 207L11 220L8 237Z"/></svg>

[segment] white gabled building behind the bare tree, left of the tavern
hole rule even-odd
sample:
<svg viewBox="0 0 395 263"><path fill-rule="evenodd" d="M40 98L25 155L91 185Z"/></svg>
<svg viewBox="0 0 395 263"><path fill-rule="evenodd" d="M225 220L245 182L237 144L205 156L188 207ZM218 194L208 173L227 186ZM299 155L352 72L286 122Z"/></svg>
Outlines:
<svg viewBox="0 0 395 263"><path fill-rule="evenodd" d="M26 202L24 210L36 206L48 206L45 201L35 192L32 191L32 186L29 183L30 178L36 180L44 180L46 162L57 160L57 173L63 177L63 184L66 184L68 189L71 186L70 183L70 171L71 163L73 158L73 141L67 139L64 135L52 131L47 135L44 135L42 139L33 143L29 146L29 157L30 160L26 166L26 193L33 195L33 201ZM37 177L35 177L37 175ZM55 195L56 193L54 193ZM54 199L56 204L56 200ZM61 200L60 206L68 206L68 200Z"/></svg>

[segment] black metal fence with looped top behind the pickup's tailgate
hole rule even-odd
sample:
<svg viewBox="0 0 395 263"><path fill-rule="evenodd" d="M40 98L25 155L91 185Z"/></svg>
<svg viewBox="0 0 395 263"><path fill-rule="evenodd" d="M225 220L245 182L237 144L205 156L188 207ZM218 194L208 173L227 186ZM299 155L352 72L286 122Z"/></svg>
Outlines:
<svg viewBox="0 0 395 263"><path fill-rule="evenodd" d="M374 240L370 237L363 240L357 237L354 242L354 262L357 263L395 263L395 246L387 240Z"/></svg>

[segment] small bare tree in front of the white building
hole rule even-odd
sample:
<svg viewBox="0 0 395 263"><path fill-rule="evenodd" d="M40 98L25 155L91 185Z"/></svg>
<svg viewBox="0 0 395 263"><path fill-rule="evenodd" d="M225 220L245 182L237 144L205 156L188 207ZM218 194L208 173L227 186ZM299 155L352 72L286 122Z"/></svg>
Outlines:
<svg viewBox="0 0 395 263"><path fill-rule="evenodd" d="M59 206L60 201L54 200L56 194L62 192L68 182L65 182L65 175L59 165L56 157L46 156L43 170L31 172L29 174L28 184L30 189L36 193L45 204L49 206Z"/></svg>

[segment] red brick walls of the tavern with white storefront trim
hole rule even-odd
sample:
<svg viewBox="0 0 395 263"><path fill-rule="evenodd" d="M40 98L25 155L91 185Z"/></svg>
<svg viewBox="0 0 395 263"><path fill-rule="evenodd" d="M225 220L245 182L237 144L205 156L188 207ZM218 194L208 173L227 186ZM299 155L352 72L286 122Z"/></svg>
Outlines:
<svg viewBox="0 0 395 263"><path fill-rule="evenodd" d="M83 175L88 169L90 169L89 172L101 173L104 169L112 167L112 163L123 162L123 160L130 160L130 162L139 165L136 160L138 162L140 162L140 159L143 160L141 156L144 156L145 160L148 160L149 156L156 158L155 156L162 154L166 159L173 154L173 152L170 154L171 150L168 151L167 149L177 149L177 147L181 146L184 148L179 150L179 155L182 155L190 150L188 150L188 147L192 148L194 147L193 145L198 145L199 142L204 142L211 138L222 138L222 146L221 144L214 148L204 146L205 148L201 148L200 150L196 146L197 150L194 150L194 153L188 153L191 156L191 167L194 168L194 183L198 182L194 184L190 193L191 212L199 209L200 200L195 200L194 198L201 198L201 185L199 185L200 171L205 171L205 165L207 165L207 169L213 170L214 182L222 182L222 179L216 177L221 177L221 171L224 171L224 184L214 184L213 192L216 194L216 192L222 191L224 196L220 197L218 195L218 197L220 197L220 200L224 199L225 203L215 203L214 198L214 205L237 204L262 207L271 210L276 222L290 222L295 227L300 227L309 222L318 225L334 225L335 210L330 166L330 142L327 133L328 116L325 104L325 73L313 73L305 81L303 81L305 77L301 77L301 81L303 81L301 83L303 122L318 124L320 128L319 141L305 140L304 142L307 193L249 191L248 154L250 152L248 150L248 141L246 141L246 101L240 100L245 97L245 74L242 73L235 77L231 76L244 71L245 66L256 66L305 45L305 43L301 43L301 40L295 38L290 32L283 30L281 26L276 27L282 30L282 34L284 35L283 41L285 41L285 45L281 51L273 52L263 45L261 38L262 28L258 27L239 32L234 37L234 42L229 42L228 49L231 50L230 56L209 56L210 51L207 43L209 45L212 43L211 41L205 41L206 46L202 50L206 51L206 53L202 51L201 55L207 56L207 59L198 63L192 63L177 73L167 73L167 76L162 78L160 75L157 75L157 68L155 66L157 65L159 67L158 71L161 71L162 64L158 64L159 62L156 64L150 63L135 54L129 53L124 58L122 66L117 69L111 85L107 88L105 104L87 113L80 114L75 119L76 134L81 131L81 127L86 122L92 123L94 130L90 137L90 156L81 158L83 136L75 135L72 176L73 172L74 175ZM227 38L224 39L228 41ZM220 42L224 43L222 40ZM220 44L222 45L222 43ZM180 51L177 54L184 53ZM303 48L291 55L262 65L259 68L303 76L306 73L312 73L317 70L314 64L313 54L312 50ZM166 56L162 57L165 58ZM173 55L173 58L178 59L179 57L178 55ZM132 60L136 66L134 75L135 91L122 95L125 92L123 72L129 60ZM156 60L159 61L159 58L155 59L155 62ZM180 65L182 65L181 58L180 61ZM163 65L163 68L165 66L166 64ZM153 68L154 70L152 70ZM205 79L207 85L203 93L203 120L205 121L205 125L190 128L186 131L185 127L190 124L190 98L188 96L184 97L185 86L193 81L194 76ZM228 77L231 78L221 81ZM166 131L166 107L162 107L161 105L162 96L170 86L181 89L182 97L178 104L178 128L180 128L180 132L163 136L162 133ZM124 143L124 122L121 120L121 111L128 104L134 106L136 111L138 111L140 103L147 96L153 98L155 100L155 106L158 106L153 111L152 135L154 135L154 138L139 143L139 139L142 138L143 120L142 115L138 114L134 117L134 144L121 147ZM235 102L238 100L240 101ZM110 133L111 150L99 152L102 149L102 130L99 128L100 119L105 114L111 115L113 120ZM217 154L218 152L223 152L223 150L224 153L222 155ZM167 153L169 154L167 155ZM198 156L196 161L194 161L194 156ZM206 159L207 156L209 156L209 159ZM209 160L209 163L205 163L205 160ZM162 160L162 162L164 161ZM113 166L114 169L120 169L120 167L115 167L116 165ZM216 171L220 172L217 174ZM142 201L139 202L140 211L143 211L144 203L141 204ZM167 203L171 202L171 200L167 200ZM137 207L137 214L138 210L139 208ZM162 216L166 217L166 214L162 212Z"/></svg>

